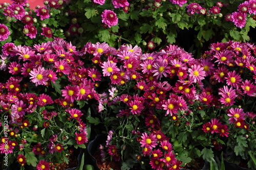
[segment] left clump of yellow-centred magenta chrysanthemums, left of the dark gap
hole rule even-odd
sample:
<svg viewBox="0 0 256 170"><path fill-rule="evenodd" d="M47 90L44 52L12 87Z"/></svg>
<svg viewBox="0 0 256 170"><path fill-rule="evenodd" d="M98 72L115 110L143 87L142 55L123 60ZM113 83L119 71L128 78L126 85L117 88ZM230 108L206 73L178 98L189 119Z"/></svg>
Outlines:
<svg viewBox="0 0 256 170"><path fill-rule="evenodd" d="M32 47L6 43L2 52L1 72L6 76L0 83L0 111L8 127L2 121L1 126L8 135L1 136L0 153L21 169L68 163L69 150L85 148L88 142L83 113L74 100L94 96L76 47L55 38Z"/></svg>

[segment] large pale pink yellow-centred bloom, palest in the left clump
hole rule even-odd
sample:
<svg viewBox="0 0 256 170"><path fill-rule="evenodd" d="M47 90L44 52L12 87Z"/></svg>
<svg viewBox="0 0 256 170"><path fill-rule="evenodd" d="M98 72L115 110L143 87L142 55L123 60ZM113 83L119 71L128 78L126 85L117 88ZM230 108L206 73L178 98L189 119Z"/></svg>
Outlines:
<svg viewBox="0 0 256 170"><path fill-rule="evenodd" d="M47 70L44 67L34 68L30 71L29 75L31 76L31 82L35 83L35 86L46 85L46 82L49 80Z"/></svg>

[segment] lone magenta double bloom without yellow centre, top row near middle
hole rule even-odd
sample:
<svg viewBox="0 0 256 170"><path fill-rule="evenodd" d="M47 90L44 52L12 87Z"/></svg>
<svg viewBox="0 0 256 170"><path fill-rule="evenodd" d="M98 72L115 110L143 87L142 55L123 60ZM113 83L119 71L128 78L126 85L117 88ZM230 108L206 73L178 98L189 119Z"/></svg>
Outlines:
<svg viewBox="0 0 256 170"><path fill-rule="evenodd" d="M118 23L118 18L114 11L104 10L101 14L101 17L102 17L102 23L107 25L109 28L111 28L111 26L117 25Z"/></svg>

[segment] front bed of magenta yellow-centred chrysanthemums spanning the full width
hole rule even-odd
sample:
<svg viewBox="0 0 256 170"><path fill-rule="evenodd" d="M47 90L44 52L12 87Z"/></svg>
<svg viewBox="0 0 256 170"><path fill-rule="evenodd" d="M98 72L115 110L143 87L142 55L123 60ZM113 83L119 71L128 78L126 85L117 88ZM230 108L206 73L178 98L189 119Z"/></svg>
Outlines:
<svg viewBox="0 0 256 170"><path fill-rule="evenodd" d="M54 38L6 43L2 53L0 150L20 169L68 162L71 145L86 147L87 120L108 134L102 161L122 160L123 169L180 169L219 151L255 167L254 44L213 43L195 59L177 45L142 53L88 42L78 51ZM87 117L90 101L98 113Z"/></svg>

